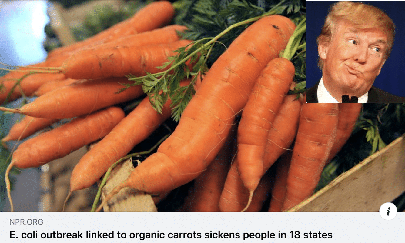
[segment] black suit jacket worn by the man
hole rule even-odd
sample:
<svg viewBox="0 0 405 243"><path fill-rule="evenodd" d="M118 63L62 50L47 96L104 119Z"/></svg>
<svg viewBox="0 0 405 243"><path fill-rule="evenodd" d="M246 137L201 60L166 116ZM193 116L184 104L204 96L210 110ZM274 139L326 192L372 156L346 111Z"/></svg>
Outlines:
<svg viewBox="0 0 405 243"><path fill-rule="evenodd" d="M318 83L307 89L307 102L318 103ZM390 94L377 87L371 87L368 94L367 103L405 103L405 98Z"/></svg>

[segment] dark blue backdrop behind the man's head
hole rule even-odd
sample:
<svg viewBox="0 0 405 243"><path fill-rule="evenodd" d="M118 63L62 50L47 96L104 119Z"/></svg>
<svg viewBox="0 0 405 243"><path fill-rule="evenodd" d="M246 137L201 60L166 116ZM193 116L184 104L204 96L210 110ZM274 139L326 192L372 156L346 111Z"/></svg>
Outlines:
<svg viewBox="0 0 405 243"><path fill-rule="evenodd" d="M315 85L322 77L318 68L318 45L320 34L330 5L336 1L307 1L307 87ZM355 2L355 1L354 1ZM391 56L386 60L375 87L405 97L405 1L362 1L376 6L390 16L395 23L395 38Z"/></svg>

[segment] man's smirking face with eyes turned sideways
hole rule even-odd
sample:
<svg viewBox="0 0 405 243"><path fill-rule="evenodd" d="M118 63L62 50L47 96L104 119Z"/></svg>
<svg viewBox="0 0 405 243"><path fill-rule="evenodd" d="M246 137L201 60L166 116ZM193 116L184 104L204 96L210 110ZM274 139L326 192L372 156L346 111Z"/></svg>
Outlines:
<svg viewBox="0 0 405 243"><path fill-rule="evenodd" d="M342 94L365 94L384 65L386 48L387 36L382 30L356 29L341 21L330 42L318 46L319 56L324 60L326 89L333 90L337 94L335 98Z"/></svg>

